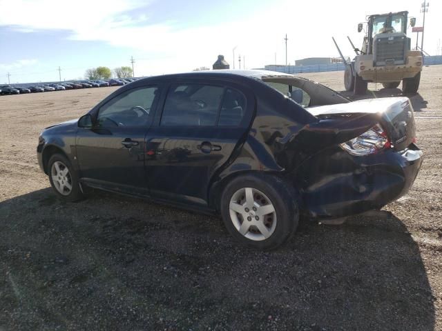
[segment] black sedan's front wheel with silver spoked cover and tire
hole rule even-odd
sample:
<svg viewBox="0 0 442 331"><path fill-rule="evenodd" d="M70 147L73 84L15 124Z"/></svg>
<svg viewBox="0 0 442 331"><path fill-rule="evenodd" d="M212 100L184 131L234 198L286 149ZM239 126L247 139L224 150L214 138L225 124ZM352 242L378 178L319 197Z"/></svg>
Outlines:
<svg viewBox="0 0 442 331"><path fill-rule="evenodd" d="M48 162L49 181L59 199L73 202L83 199L78 174L64 155L54 154Z"/></svg>

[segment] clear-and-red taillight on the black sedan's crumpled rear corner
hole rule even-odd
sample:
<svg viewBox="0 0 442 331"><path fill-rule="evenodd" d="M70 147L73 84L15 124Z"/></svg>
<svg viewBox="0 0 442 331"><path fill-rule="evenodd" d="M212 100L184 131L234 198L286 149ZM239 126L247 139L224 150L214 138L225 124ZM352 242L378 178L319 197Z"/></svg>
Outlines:
<svg viewBox="0 0 442 331"><path fill-rule="evenodd" d="M352 155L363 157L376 153L380 150L392 148L392 143L383 128L376 124L373 128L364 132L359 137L341 143L340 147Z"/></svg>

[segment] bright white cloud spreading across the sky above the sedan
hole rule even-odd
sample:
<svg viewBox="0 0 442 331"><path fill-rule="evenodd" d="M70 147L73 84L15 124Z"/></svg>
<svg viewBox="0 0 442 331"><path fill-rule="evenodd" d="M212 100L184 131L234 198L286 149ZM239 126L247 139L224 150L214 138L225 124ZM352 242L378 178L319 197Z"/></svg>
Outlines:
<svg viewBox="0 0 442 331"><path fill-rule="evenodd" d="M250 11L239 15L237 12L231 15L236 10L233 2L217 12L208 5L204 13L209 19L197 27L191 24L196 17L189 10L179 21L167 15L160 17L159 12L164 12L167 6L189 9L196 6L194 3L190 0L0 0L0 26L35 33L64 30L71 40L102 41L126 48L131 52L128 56L135 57L135 72L156 74L211 66L218 54L224 54L232 65L232 49L237 45L236 68L239 55L245 55L247 68L262 68L274 63L276 56L278 63L285 63L286 33L289 63L303 57L338 56L332 36L338 40L343 53L350 56L353 50L345 36L352 37L356 46L361 45L362 35L356 33L356 25L366 14L386 12L398 6L411 10L414 6L414 0L376 0L369 8L349 7L345 0L275 0L271 5L266 3L264 10L253 10L251 6ZM216 20L220 23L211 23L210 17L214 15L223 18L221 22ZM425 38L431 42L434 39L430 32L431 17L427 24Z"/></svg>

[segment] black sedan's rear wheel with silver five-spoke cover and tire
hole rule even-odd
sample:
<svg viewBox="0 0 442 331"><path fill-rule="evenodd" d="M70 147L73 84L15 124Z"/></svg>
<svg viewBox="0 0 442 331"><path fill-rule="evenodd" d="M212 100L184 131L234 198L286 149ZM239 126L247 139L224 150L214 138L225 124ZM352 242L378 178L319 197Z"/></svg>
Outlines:
<svg viewBox="0 0 442 331"><path fill-rule="evenodd" d="M220 209L232 237L259 250L285 243L298 227L298 197L279 177L247 174L224 188Z"/></svg>

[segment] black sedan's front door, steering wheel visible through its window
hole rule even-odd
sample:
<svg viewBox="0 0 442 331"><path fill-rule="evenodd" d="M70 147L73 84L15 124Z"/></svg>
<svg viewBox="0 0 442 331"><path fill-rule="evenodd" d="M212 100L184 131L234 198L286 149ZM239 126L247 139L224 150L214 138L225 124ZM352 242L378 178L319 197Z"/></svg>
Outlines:
<svg viewBox="0 0 442 331"><path fill-rule="evenodd" d="M146 191L144 139L159 97L157 86L126 90L99 107L93 128L79 128L81 180L113 190Z"/></svg>

